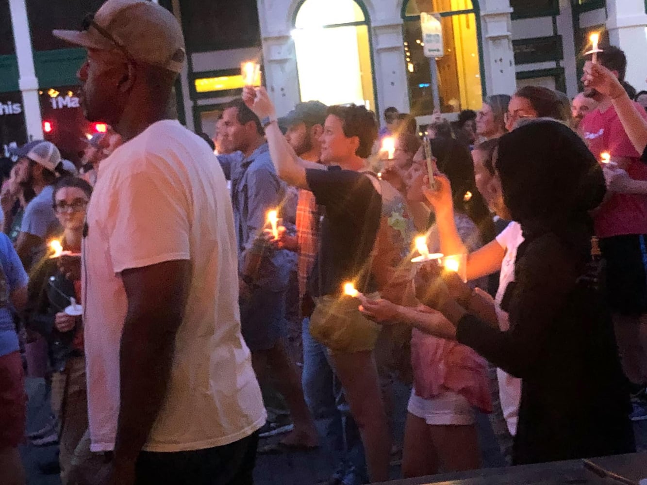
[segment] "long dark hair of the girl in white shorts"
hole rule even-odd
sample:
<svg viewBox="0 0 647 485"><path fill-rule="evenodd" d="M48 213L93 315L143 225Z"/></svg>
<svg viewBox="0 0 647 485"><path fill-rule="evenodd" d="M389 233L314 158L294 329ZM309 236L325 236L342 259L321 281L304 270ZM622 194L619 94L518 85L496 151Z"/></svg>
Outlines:
<svg viewBox="0 0 647 485"><path fill-rule="evenodd" d="M453 138L435 138L432 140L432 151L438 160L439 171L444 173L452 184L455 211L472 219L481 233L483 244L492 241L494 221L483 196L476 188L474 162L469 149Z"/></svg>

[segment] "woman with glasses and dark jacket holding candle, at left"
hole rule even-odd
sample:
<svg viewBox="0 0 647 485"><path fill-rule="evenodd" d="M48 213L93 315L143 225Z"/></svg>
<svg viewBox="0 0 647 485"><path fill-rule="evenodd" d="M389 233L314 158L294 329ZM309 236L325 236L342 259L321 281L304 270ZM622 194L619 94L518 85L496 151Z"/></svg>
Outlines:
<svg viewBox="0 0 647 485"><path fill-rule="evenodd" d="M85 210L90 184L64 177L54 184L52 202L63 227L63 251L80 257ZM59 268L59 257L48 257L36 268L29 283L25 321L47 338L52 369L52 410L60 421L61 481L66 484L72 455L87 429L87 393L83 324L80 307L81 281L71 281ZM73 301L74 300L74 301Z"/></svg>

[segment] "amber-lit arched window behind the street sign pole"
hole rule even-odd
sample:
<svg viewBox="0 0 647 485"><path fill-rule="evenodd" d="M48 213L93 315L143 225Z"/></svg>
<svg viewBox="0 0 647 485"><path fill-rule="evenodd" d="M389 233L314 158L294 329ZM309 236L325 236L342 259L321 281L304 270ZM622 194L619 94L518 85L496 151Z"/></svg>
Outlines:
<svg viewBox="0 0 647 485"><path fill-rule="evenodd" d="M471 0L408 0L404 8L404 50L411 113L432 114L433 90L430 59L422 52L421 12L441 15L444 56L437 59L440 110L457 113L478 110L483 102L479 17Z"/></svg>

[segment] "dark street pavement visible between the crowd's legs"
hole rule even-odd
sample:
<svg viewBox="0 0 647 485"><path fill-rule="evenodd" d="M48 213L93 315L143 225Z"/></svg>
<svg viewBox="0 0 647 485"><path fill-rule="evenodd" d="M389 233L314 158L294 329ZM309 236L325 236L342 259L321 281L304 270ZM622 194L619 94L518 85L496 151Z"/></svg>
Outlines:
<svg viewBox="0 0 647 485"><path fill-rule="evenodd" d="M49 398L45 393L43 379L27 379L27 394L29 396L27 408L27 432L39 429L50 415ZM406 417L406 403L409 389L404 385L395 385L394 407L397 412L392 416L395 442L402 444L404 419ZM635 422L635 433L639 451L647 451L647 420ZM505 461L499 452L494 433L488 422L487 415L477 415L477 429L479 445L481 447L481 460L483 468L496 468L505 466ZM281 436L265 438L259 446L264 446L279 441ZM45 475L41 466L57 459L58 446L34 447L25 445L21 447L21 455L27 470L28 485L60 485L58 475ZM333 473L334 463L323 447L313 451L292 451L279 455L258 455L254 469L256 485L314 485L328 479ZM400 466L397 456L393 457L391 478L399 479ZM0 480L1 481L1 480Z"/></svg>

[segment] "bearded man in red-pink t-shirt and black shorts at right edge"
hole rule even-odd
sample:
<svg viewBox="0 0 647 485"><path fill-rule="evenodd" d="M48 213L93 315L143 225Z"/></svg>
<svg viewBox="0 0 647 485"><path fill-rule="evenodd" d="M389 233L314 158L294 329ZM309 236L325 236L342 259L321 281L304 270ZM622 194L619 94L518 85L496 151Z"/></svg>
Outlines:
<svg viewBox="0 0 647 485"><path fill-rule="evenodd" d="M598 63L624 81L627 59L617 47L605 47ZM607 152L611 162L626 171L633 180L647 180L647 165L630 138L607 94L587 87L584 95L598 106L582 120L580 128L591 153L598 160ZM643 118L647 113L634 103ZM606 166L605 171L613 169ZM594 215L595 233L600 238L602 255L607 262L606 290L613 312L622 367L631 381L634 394L633 420L647 419L647 352L641 344L641 327L647 325L647 195L628 193L610 187L604 202ZM644 330L642 330L644 332Z"/></svg>

